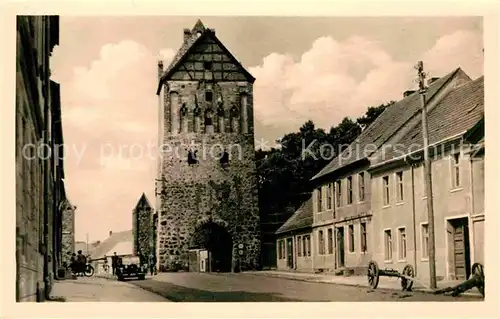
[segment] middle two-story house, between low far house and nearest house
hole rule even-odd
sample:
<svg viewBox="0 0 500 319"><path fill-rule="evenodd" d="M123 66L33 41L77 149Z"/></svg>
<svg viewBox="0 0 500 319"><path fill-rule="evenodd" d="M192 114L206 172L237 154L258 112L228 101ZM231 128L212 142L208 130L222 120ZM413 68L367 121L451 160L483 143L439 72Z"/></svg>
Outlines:
<svg viewBox="0 0 500 319"><path fill-rule="evenodd" d="M432 109L456 86L470 81L460 69L433 78L427 99ZM370 156L419 120L415 91L388 107L360 136L312 178L312 265L314 270L362 270L375 251ZM279 244L278 244L279 245Z"/></svg>

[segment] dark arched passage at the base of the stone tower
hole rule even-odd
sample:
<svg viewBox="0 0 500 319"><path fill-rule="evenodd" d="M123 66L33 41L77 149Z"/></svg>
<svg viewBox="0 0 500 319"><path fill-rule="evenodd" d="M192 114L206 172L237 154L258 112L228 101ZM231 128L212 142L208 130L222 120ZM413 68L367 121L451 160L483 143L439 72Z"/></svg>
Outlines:
<svg viewBox="0 0 500 319"><path fill-rule="evenodd" d="M233 241L224 226L214 221L198 225L191 236L190 246L208 251L208 271L231 271Z"/></svg>

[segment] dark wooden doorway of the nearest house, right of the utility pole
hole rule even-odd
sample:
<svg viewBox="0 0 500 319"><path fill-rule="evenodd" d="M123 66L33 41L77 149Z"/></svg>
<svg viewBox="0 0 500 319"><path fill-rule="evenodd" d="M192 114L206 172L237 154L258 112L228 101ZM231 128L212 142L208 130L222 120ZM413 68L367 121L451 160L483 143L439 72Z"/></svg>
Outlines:
<svg viewBox="0 0 500 319"><path fill-rule="evenodd" d="M448 244L448 277L465 280L470 276L469 219L448 219L446 223Z"/></svg>

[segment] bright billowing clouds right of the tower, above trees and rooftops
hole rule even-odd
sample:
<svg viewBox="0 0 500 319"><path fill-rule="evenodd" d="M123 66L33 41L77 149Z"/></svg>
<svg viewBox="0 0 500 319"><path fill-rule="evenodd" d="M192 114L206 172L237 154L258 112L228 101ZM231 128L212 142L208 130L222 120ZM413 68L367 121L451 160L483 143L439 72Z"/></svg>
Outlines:
<svg viewBox="0 0 500 319"><path fill-rule="evenodd" d="M480 35L457 31L440 38L422 59L432 76L461 66L477 77L482 74L481 50ZM415 62L394 60L379 43L360 36L343 41L320 37L299 61L271 53L249 68L256 77L256 121L290 127L311 119L329 128L345 116L361 116L368 106L400 99L415 87Z"/></svg>

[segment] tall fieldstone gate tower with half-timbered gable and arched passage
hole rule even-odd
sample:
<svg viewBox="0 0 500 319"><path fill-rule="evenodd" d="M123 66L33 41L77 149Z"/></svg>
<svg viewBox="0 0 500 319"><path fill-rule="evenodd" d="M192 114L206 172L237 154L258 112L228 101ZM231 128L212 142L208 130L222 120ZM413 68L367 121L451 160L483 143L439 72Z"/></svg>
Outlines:
<svg viewBox="0 0 500 319"><path fill-rule="evenodd" d="M191 269L195 248L208 251L209 270L257 267L255 78L200 20L158 77L159 270Z"/></svg>

